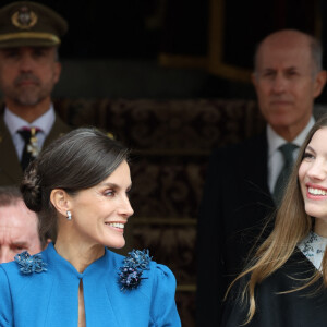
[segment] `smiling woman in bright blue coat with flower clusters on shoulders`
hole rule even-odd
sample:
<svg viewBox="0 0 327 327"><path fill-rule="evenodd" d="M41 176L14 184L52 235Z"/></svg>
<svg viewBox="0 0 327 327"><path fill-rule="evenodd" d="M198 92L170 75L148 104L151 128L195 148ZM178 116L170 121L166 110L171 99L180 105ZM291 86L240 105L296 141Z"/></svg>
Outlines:
<svg viewBox="0 0 327 327"><path fill-rule="evenodd" d="M27 168L22 193L53 243L0 265L0 326L181 326L175 279L146 251L128 257L133 209L128 150L99 131L78 129Z"/></svg>

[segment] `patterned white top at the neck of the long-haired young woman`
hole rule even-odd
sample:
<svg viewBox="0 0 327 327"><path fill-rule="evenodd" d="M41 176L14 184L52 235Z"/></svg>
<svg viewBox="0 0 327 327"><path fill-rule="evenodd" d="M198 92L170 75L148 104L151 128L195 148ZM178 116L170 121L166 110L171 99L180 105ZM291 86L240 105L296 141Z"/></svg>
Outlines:
<svg viewBox="0 0 327 327"><path fill-rule="evenodd" d="M311 231L298 247L313 263L317 270L322 271L322 262L327 245L327 238L319 237Z"/></svg>

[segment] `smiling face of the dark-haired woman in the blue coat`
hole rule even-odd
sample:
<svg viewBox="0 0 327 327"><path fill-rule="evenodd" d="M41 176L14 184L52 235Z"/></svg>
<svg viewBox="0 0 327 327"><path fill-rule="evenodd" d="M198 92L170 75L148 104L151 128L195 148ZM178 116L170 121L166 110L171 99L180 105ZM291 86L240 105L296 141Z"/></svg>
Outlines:
<svg viewBox="0 0 327 327"><path fill-rule="evenodd" d="M124 225L133 209L130 167L123 161L106 180L70 197L74 237L90 245L124 246Z"/></svg>

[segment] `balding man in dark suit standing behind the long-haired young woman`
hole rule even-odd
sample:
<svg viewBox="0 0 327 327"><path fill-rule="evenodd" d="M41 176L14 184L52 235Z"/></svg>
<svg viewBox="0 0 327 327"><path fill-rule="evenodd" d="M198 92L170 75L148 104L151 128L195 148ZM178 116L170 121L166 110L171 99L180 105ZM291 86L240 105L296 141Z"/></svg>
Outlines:
<svg viewBox="0 0 327 327"><path fill-rule="evenodd" d="M294 158L314 124L314 99L326 82L319 43L291 29L267 36L256 50L252 80L266 131L215 150L207 171L198 219L201 327L219 326L227 288L278 205L276 190L287 161L281 148L291 143Z"/></svg>

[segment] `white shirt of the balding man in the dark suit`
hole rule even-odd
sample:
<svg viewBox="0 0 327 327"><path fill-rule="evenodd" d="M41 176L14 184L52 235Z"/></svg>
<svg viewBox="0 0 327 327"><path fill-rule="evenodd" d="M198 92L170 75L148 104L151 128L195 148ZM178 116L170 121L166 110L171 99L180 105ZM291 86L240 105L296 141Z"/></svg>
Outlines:
<svg viewBox="0 0 327 327"><path fill-rule="evenodd" d="M303 144L308 131L314 125L315 120L312 117L305 129L292 141L299 147ZM268 186L272 194L275 183L283 166L283 158L281 152L278 149L281 145L288 143L284 138L279 136L268 124L267 126L267 141L268 141ZM299 154L299 148L293 152L294 159Z"/></svg>

